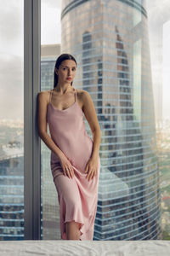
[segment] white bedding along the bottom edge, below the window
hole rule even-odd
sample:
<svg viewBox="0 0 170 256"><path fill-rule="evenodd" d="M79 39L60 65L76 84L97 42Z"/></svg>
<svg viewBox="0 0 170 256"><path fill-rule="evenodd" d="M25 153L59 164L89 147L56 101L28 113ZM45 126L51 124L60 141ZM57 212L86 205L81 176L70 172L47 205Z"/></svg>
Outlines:
<svg viewBox="0 0 170 256"><path fill-rule="evenodd" d="M0 255L170 256L170 241L0 241Z"/></svg>

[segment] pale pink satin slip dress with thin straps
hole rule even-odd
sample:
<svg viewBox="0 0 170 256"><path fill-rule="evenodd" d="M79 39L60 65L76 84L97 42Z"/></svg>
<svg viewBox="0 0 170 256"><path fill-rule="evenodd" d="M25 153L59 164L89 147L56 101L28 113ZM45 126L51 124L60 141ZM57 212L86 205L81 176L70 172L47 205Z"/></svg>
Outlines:
<svg viewBox="0 0 170 256"><path fill-rule="evenodd" d="M93 140L88 136L83 121L83 112L77 102L64 110L55 108L51 103L53 90L50 91L47 121L54 143L71 162L74 177L64 175L59 157L51 151L51 172L58 192L60 234L66 240L65 223L75 221L81 224L80 240L93 240L94 220L97 211L100 159L98 158L97 176L88 181L85 167L92 154Z"/></svg>

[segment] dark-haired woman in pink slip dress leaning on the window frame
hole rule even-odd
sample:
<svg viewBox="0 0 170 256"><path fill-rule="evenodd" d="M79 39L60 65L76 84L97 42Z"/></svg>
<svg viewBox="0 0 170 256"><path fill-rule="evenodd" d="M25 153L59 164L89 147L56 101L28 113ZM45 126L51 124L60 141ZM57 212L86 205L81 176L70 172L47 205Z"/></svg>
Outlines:
<svg viewBox="0 0 170 256"><path fill-rule="evenodd" d="M72 86L76 70L77 61L72 55L59 55L54 67L54 89L38 94L38 133L51 149L61 239L93 240L100 170L100 128L88 91L76 90ZM85 129L83 113L93 140Z"/></svg>

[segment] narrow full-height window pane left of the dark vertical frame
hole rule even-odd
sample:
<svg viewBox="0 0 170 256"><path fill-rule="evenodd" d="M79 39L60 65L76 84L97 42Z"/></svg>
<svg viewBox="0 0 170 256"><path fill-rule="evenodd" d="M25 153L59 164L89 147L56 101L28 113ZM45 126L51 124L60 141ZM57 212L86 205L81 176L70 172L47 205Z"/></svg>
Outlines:
<svg viewBox="0 0 170 256"><path fill-rule="evenodd" d="M0 0L0 240L24 239L24 0Z"/></svg>

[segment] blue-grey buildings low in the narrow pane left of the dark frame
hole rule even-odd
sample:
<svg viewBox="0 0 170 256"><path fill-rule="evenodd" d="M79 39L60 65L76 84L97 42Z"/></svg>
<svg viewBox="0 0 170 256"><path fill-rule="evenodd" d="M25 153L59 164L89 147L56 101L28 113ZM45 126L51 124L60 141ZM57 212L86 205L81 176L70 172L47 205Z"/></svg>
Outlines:
<svg viewBox="0 0 170 256"><path fill-rule="evenodd" d="M0 149L0 241L24 240L23 149L19 142Z"/></svg>

